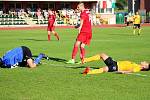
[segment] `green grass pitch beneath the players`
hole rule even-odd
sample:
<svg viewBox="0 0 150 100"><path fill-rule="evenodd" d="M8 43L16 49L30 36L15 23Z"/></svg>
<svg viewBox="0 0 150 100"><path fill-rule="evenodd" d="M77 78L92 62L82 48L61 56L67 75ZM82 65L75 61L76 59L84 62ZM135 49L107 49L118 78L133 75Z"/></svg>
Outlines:
<svg viewBox="0 0 150 100"><path fill-rule="evenodd" d="M65 64L71 58L76 29L56 31L60 41L44 29L0 30L0 56L17 46L28 46L33 55L45 53L52 59L42 60L35 69L0 68L0 100L150 100L150 77L103 73L83 76L84 67L104 66L102 61L83 65ZM136 63L150 61L150 28L142 27L141 36L132 28L93 28L86 57L105 52L116 60ZM79 54L77 61L79 61ZM139 72L150 76L149 72Z"/></svg>

